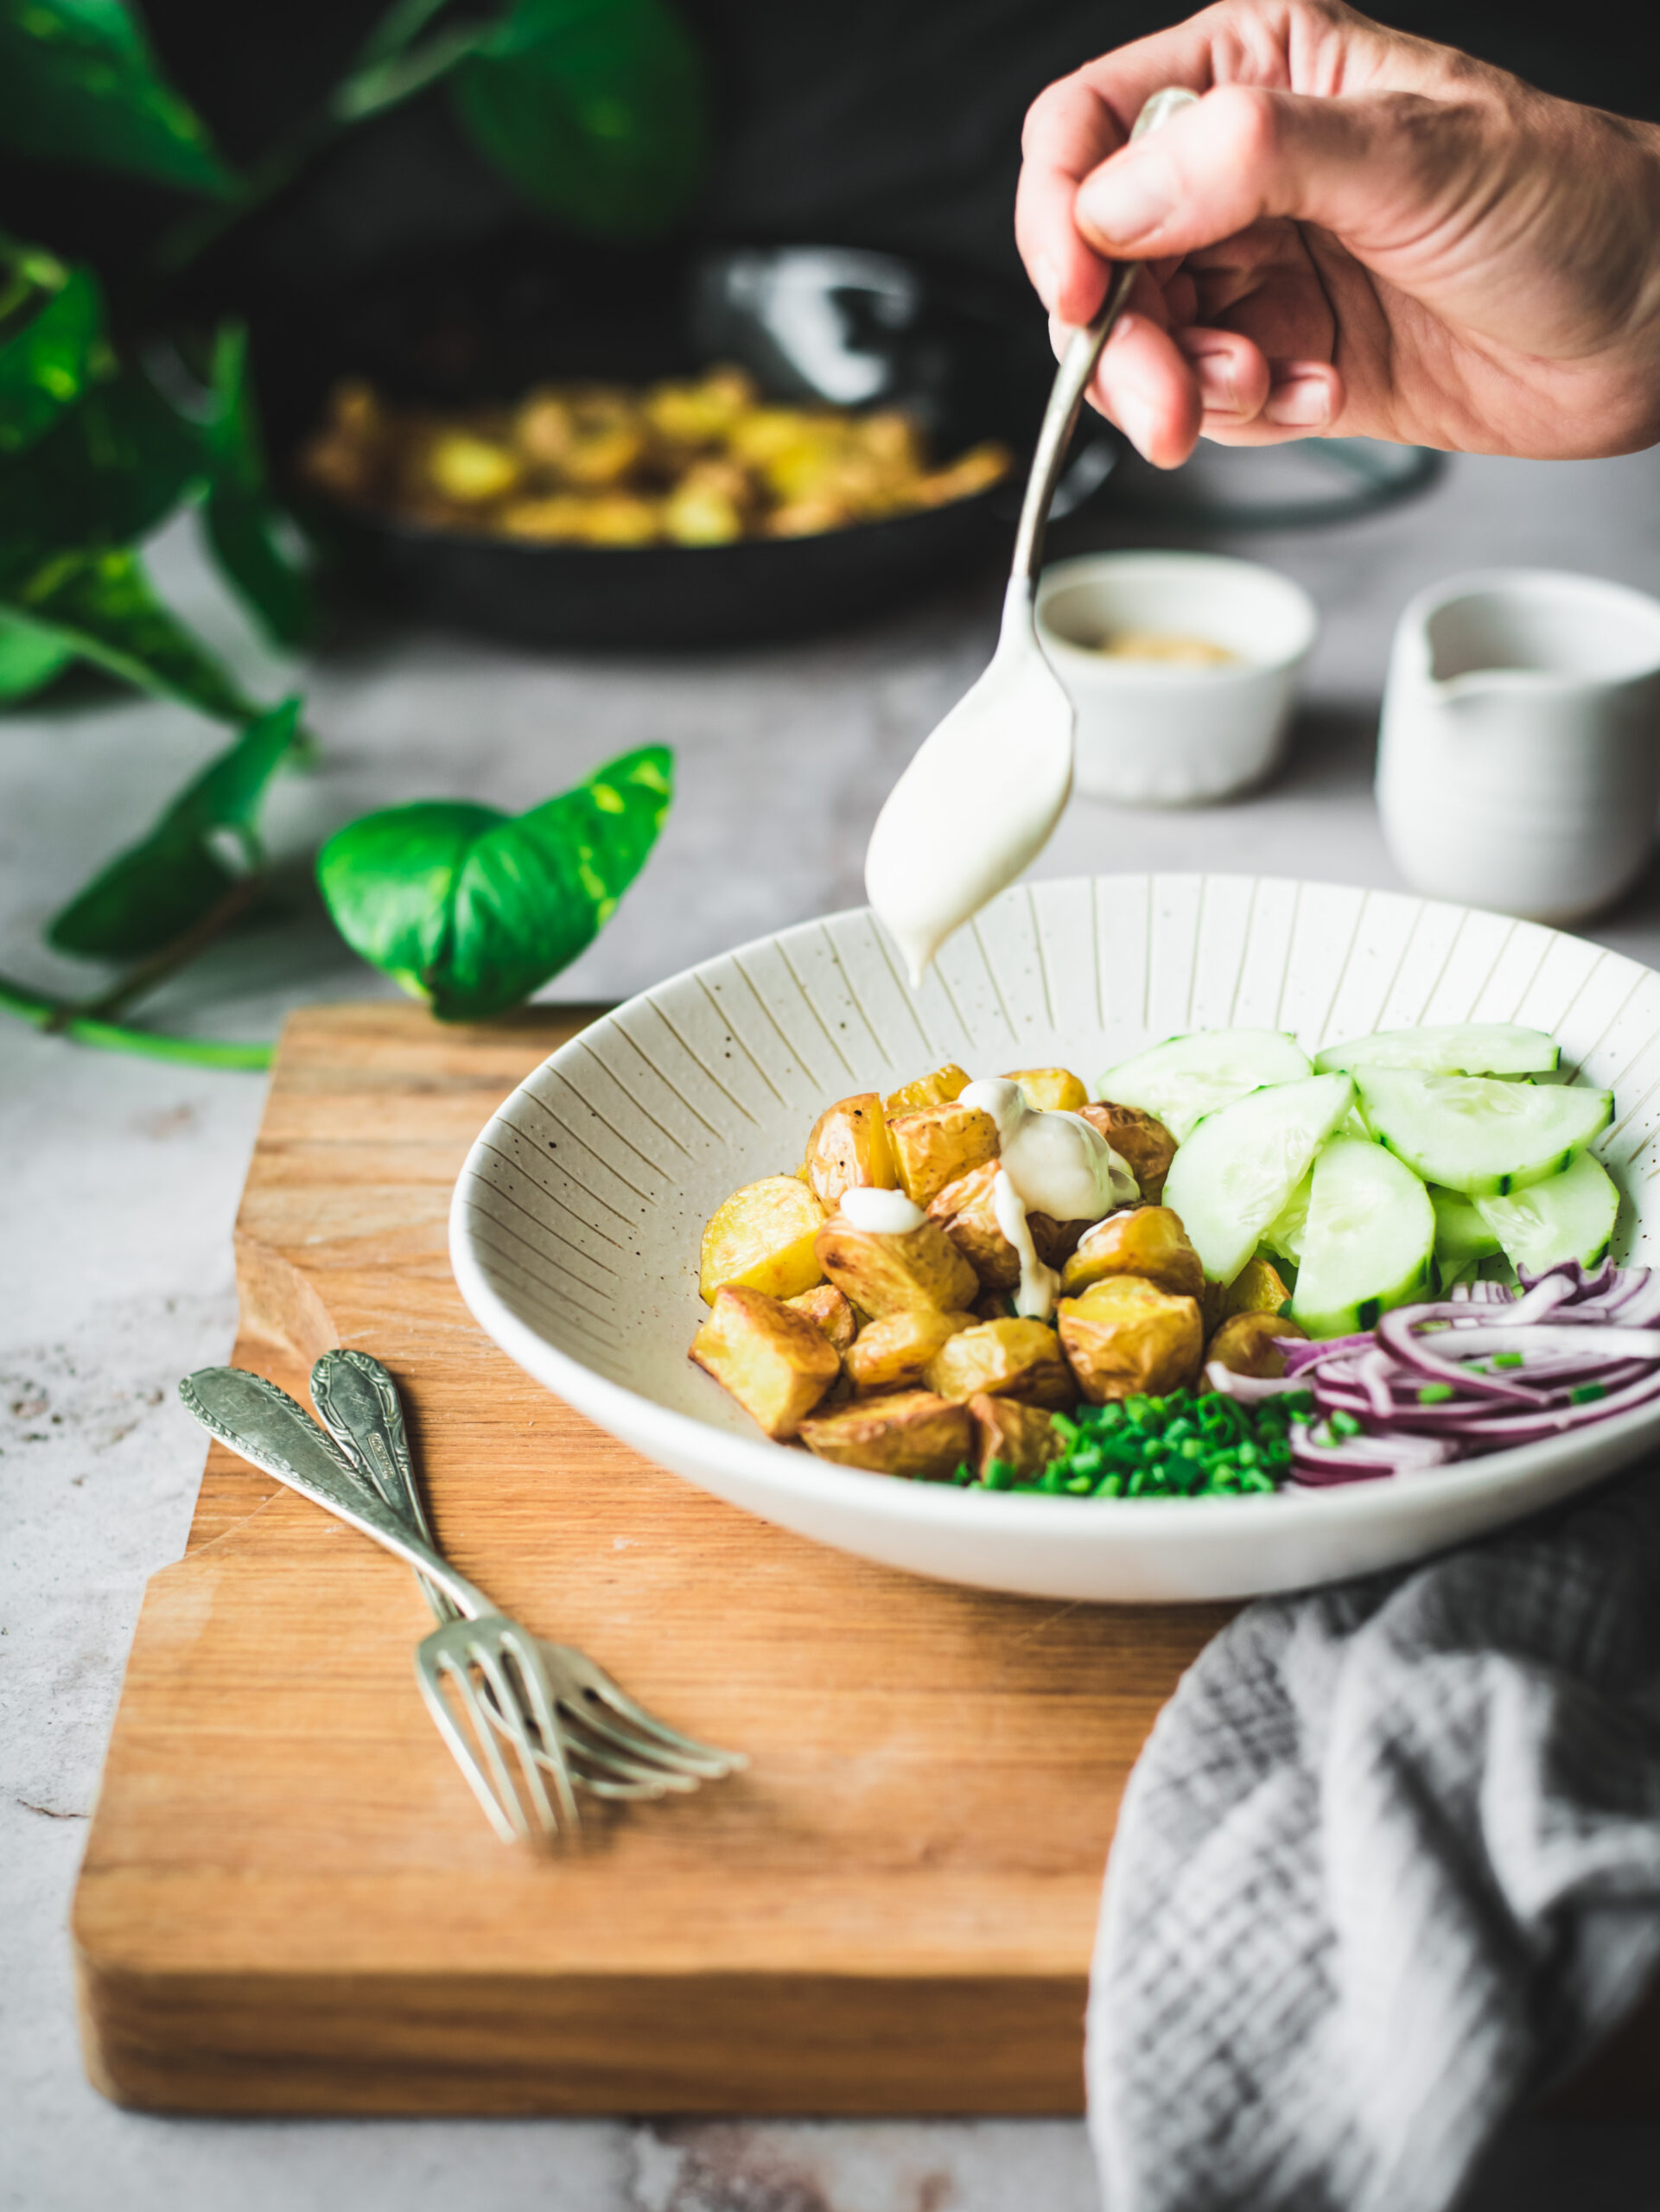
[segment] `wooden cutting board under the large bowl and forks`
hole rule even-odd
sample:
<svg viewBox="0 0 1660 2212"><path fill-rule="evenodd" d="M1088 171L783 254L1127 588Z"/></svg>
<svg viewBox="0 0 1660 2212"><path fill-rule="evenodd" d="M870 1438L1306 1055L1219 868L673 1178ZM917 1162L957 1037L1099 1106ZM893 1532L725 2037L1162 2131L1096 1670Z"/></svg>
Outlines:
<svg viewBox="0 0 1660 2212"><path fill-rule="evenodd" d="M449 1188L582 1013L297 1015L237 1219L235 1358L398 1376L452 1559L666 1719L695 1798L502 1847L409 1655L412 1577L215 1447L144 1599L75 1896L86 2066L199 2112L1071 2112L1124 1778L1231 1608L916 1582L717 1504L518 1371ZM199 1451L184 1411L179 1453ZM1660 2011L1583 2099L1651 2108Z"/></svg>

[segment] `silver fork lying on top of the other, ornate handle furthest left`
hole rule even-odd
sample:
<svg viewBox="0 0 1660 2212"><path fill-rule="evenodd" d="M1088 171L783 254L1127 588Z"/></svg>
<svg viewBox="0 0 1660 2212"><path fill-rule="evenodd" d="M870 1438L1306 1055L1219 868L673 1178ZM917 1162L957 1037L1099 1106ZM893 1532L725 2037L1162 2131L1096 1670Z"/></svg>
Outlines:
<svg viewBox="0 0 1660 2212"><path fill-rule="evenodd" d="M529 1840L536 1832L556 1836L560 1820L578 1829L575 1792L553 1721L553 1683L536 1637L409 1528L334 1438L266 1376L246 1367L201 1367L179 1383L179 1398L221 1444L407 1559L423 1588L443 1593L452 1613L418 1646L416 1681L502 1843ZM483 1688L474 1686L474 1674ZM445 1683L471 1723L471 1741L456 1721ZM518 1785L498 1736L516 1754ZM553 1783L551 1798L544 1776Z"/></svg>

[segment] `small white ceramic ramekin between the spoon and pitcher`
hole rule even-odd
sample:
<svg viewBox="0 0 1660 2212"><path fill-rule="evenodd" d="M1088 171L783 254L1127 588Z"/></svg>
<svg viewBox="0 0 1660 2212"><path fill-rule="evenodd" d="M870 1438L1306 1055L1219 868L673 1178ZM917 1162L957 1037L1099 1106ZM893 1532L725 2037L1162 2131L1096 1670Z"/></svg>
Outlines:
<svg viewBox="0 0 1660 2212"><path fill-rule="evenodd" d="M1085 553L1045 568L1038 637L1078 714L1078 790L1184 807L1259 783L1279 759L1317 628L1299 584L1222 553ZM1122 630L1204 637L1237 659L1093 650Z"/></svg>

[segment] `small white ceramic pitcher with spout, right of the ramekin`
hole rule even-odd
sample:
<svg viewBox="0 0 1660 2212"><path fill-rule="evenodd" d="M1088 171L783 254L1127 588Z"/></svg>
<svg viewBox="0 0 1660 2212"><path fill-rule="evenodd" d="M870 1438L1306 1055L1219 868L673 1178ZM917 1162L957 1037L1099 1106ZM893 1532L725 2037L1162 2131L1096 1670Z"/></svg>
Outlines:
<svg viewBox="0 0 1660 2212"><path fill-rule="evenodd" d="M1642 872L1660 805L1660 602L1549 568L1421 591L1383 695L1377 805L1417 891L1571 922Z"/></svg>

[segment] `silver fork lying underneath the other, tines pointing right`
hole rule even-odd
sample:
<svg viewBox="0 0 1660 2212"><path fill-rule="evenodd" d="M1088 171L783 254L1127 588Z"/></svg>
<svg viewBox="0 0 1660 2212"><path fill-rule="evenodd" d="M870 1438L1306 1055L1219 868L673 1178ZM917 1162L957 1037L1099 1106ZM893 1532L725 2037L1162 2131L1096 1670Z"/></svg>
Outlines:
<svg viewBox="0 0 1660 2212"><path fill-rule="evenodd" d="M398 1385L381 1360L367 1352L325 1352L312 1367L312 1405L334 1442L374 1482L385 1504L432 1544ZM421 1588L438 1621L456 1619L456 1608L443 1588L425 1577ZM713 1743L699 1743L668 1728L575 1646L538 1637L536 1648L551 1683L569 1772L593 1796L657 1798L722 1781L748 1765L741 1752L722 1752ZM520 1710L509 1719L485 1694L485 1714L509 1739L527 1736L538 1759L549 1756L540 1750L540 1719L533 1712Z"/></svg>

